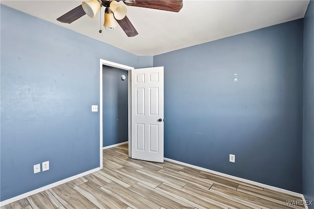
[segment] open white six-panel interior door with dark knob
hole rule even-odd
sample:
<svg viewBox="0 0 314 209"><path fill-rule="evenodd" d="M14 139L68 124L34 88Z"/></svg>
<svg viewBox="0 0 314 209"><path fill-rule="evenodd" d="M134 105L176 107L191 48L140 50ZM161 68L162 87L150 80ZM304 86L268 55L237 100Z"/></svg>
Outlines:
<svg viewBox="0 0 314 209"><path fill-rule="evenodd" d="M131 157L163 162L163 67L131 70Z"/></svg>

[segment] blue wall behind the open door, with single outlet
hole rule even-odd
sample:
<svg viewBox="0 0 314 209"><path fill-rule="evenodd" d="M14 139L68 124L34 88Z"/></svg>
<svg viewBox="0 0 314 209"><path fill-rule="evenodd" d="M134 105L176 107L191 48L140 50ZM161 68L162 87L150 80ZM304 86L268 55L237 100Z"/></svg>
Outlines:
<svg viewBox="0 0 314 209"><path fill-rule="evenodd" d="M166 158L302 192L303 20L157 55L154 66L165 69Z"/></svg>

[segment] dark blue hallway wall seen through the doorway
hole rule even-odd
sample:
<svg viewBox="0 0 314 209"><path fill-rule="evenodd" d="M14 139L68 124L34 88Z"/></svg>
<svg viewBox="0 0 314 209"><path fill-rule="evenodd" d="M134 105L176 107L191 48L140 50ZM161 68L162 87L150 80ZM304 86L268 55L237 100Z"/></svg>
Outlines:
<svg viewBox="0 0 314 209"><path fill-rule="evenodd" d="M103 146L129 139L128 79L127 70L103 67Z"/></svg>

